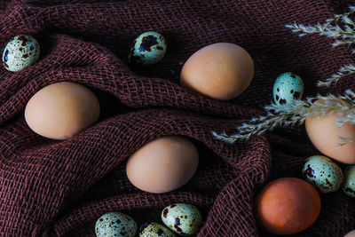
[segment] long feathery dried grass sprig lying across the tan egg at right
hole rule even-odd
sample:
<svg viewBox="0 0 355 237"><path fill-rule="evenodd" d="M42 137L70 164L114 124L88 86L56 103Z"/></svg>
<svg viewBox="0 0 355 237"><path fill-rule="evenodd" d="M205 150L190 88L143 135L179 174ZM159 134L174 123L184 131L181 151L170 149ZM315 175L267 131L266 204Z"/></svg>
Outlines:
<svg viewBox="0 0 355 237"><path fill-rule="evenodd" d="M322 103L314 102L322 99ZM295 99L293 103L276 106L271 104L264 107L266 115L255 117L249 123L242 123L236 128L237 133L227 135L225 131L218 134L211 131L212 135L222 141L233 143L236 140L246 140L253 135L261 135L266 131L274 130L277 127L287 127L304 122L306 117L315 117L320 115L346 115L338 121L338 126L342 126L344 122L355 124L355 93L351 90L345 91L344 95L335 96L329 94L327 96L316 96L305 100ZM351 115L350 115L351 114Z"/></svg>

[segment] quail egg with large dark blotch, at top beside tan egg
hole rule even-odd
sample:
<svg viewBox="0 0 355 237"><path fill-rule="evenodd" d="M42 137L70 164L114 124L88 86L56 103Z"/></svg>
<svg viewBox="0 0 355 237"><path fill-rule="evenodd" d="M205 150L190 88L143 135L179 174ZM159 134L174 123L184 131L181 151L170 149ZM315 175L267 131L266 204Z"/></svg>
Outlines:
<svg viewBox="0 0 355 237"><path fill-rule="evenodd" d="M130 48L129 60L132 65L150 66L162 60L167 42L161 34L147 31L136 38Z"/></svg>

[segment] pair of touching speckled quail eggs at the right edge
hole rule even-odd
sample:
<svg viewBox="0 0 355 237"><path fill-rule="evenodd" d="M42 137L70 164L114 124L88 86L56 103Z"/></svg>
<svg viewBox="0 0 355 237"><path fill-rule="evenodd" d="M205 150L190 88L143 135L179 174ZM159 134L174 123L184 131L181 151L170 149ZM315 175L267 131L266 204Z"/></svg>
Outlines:
<svg viewBox="0 0 355 237"><path fill-rule="evenodd" d="M324 155L313 155L304 162L304 179L323 194L335 192L343 186L343 192L355 197L355 165L343 170Z"/></svg>

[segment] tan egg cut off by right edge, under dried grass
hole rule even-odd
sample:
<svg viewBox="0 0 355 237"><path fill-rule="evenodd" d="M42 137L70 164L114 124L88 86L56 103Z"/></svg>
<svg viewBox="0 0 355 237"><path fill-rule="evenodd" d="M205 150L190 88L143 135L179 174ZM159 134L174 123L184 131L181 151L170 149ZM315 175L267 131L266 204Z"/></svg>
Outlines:
<svg viewBox="0 0 355 237"><path fill-rule="evenodd" d="M323 103L322 100L317 101ZM341 116L335 113L333 115L307 117L305 119L305 129L308 138L311 139L313 146L319 152L338 162L354 164L355 143L343 144L341 138L355 138L355 125L346 122L342 127L338 128L335 121ZM341 144L343 146L340 146Z"/></svg>

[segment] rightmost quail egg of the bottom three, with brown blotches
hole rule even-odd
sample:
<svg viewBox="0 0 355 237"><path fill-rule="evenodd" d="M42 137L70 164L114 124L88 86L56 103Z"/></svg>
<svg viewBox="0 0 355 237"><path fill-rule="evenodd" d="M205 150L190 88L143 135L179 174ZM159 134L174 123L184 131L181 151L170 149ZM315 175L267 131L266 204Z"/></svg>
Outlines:
<svg viewBox="0 0 355 237"><path fill-rule="evenodd" d="M162 210L162 222L173 232L187 236L199 230L202 217L193 205L175 203Z"/></svg>

